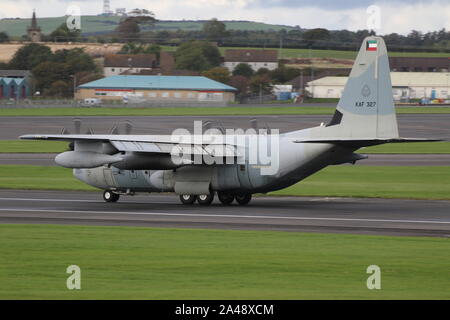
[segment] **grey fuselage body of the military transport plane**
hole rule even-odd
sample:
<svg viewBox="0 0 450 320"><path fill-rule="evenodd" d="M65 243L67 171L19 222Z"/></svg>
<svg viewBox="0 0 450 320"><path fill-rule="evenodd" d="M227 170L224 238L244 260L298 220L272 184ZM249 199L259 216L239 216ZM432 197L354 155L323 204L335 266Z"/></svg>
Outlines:
<svg viewBox="0 0 450 320"><path fill-rule="evenodd" d="M306 129L307 131L309 129ZM355 148L327 143L293 143L302 131L280 135L279 170L261 174L260 164L184 165L170 170L126 170L114 165L74 169L74 176L97 188L121 192L173 192L175 181L210 182L211 191L266 193L286 188L332 164L353 162ZM193 192L195 194L195 192Z"/></svg>

